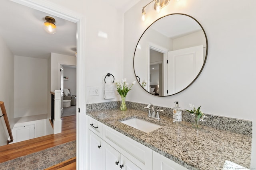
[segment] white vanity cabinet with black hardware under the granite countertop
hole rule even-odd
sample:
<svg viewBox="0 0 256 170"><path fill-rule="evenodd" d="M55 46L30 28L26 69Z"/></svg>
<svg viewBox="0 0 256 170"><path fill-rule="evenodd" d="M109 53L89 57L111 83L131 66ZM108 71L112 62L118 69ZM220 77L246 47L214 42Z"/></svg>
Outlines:
<svg viewBox="0 0 256 170"><path fill-rule="evenodd" d="M187 170L88 116L89 170Z"/></svg>

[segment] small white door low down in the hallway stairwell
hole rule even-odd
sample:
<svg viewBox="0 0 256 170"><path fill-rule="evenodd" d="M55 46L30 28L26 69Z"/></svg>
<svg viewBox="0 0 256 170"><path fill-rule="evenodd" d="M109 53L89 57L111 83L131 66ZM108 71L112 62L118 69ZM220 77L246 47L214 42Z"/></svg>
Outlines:
<svg viewBox="0 0 256 170"><path fill-rule="evenodd" d="M13 142L26 141L35 138L35 125L25 125L12 129Z"/></svg>

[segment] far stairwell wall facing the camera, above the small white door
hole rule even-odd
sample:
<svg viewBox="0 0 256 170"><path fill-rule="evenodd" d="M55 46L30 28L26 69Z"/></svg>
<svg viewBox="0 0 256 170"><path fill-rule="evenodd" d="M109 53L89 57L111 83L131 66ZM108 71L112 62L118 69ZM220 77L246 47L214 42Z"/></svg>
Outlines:
<svg viewBox="0 0 256 170"><path fill-rule="evenodd" d="M47 59L14 57L14 117L47 114Z"/></svg>

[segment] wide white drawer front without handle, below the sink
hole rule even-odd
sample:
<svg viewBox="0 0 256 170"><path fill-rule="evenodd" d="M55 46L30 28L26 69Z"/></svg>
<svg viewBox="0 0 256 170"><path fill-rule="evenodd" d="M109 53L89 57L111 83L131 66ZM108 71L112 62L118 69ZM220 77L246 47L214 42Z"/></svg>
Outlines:
<svg viewBox="0 0 256 170"><path fill-rule="evenodd" d="M118 131L102 125L102 139L144 170L152 169L152 150Z"/></svg>

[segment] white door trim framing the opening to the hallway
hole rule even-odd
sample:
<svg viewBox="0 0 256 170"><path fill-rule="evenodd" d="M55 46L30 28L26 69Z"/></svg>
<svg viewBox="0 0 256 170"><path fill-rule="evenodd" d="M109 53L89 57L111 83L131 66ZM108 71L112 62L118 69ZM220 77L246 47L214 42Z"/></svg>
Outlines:
<svg viewBox="0 0 256 170"><path fill-rule="evenodd" d="M77 59L76 59L76 76L77 76L77 101L76 110L80 108L80 113L76 114L76 168L87 170L87 134L86 129L86 90L85 90L85 17L69 9L58 6L45 0L11 0L18 4L46 12L59 18L77 23ZM86 133L86 134L84 134Z"/></svg>

